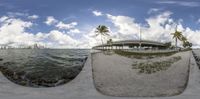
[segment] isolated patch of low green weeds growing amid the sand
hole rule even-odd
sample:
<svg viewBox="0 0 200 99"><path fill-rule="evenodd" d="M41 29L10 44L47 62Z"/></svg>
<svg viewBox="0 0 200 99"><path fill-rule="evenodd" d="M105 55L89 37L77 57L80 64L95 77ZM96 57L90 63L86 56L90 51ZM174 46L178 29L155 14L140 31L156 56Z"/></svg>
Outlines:
<svg viewBox="0 0 200 99"><path fill-rule="evenodd" d="M152 74L158 71L167 70L173 63L180 59L180 56L176 56L165 61L135 63L132 64L132 69L139 69L139 73Z"/></svg>

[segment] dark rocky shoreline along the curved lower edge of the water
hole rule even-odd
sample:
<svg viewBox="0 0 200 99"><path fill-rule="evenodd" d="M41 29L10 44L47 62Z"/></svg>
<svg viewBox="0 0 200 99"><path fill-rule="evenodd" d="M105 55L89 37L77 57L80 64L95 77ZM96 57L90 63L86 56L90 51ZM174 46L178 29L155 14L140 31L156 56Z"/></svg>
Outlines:
<svg viewBox="0 0 200 99"><path fill-rule="evenodd" d="M59 67L52 71L33 71L26 72L20 69L13 70L6 65L12 64L10 62L4 63L0 66L2 74L10 81L27 87L55 87L63 85L73 80L82 70L87 58L81 60L82 65L72 67ZM45 73L44 73L45 72Z"/></svg>

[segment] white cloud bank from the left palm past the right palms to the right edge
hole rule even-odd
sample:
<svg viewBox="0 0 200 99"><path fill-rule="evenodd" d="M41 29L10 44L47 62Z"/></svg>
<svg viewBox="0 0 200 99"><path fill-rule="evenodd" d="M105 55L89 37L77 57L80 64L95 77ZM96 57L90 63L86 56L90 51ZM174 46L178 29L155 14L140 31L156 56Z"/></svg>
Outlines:
<svg viewBox="0 0 200 99"><path fill-rule="evenodd" d="M116 31L112 34L113 39L139 39L141 30L142 39L160 42L172 41L174 43L171 33L175 31L177 25L178 30L193 43L194 47L200 46L200 41L198 40L200 38L200 30L184 27L182 25L183 20L179 19L177 23L177 21L171 18L172 14L170 11L164 11L150 16L145 19L145 24L137 23L135 18L129 16L107 14L106 17L116 28ZM178 44L180 45L181 42L178 42Z"/></svg>

